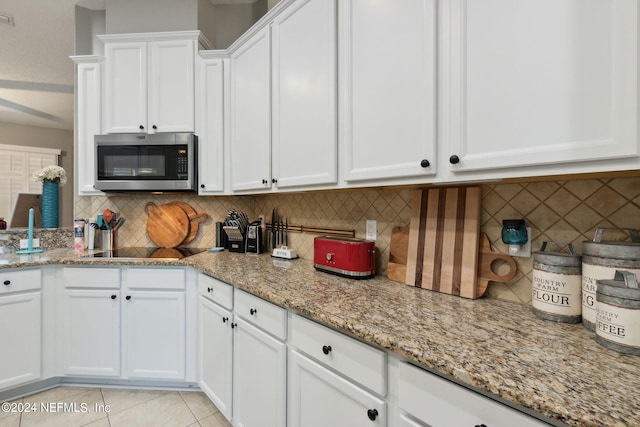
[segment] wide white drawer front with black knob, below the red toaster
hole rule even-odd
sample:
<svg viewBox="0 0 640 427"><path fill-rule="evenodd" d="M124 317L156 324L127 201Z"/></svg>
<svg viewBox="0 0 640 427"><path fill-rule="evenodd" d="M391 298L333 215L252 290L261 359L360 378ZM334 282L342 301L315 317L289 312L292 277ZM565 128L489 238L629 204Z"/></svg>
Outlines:
<svg viewBox="0 0 640 427"><path fill-rule="evenodd" d="M290 342L320 363L338 371L369 390L387 392L387 355L337 331L304 317L291 317Z"/></svg>

